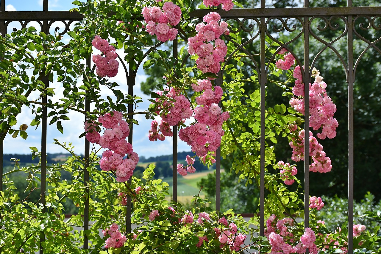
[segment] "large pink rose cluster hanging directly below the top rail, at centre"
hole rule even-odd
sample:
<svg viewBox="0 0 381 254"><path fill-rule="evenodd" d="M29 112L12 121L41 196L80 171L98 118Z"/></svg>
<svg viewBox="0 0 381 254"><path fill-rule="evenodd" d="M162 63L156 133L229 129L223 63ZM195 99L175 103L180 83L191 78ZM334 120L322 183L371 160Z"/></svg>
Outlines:
<svg viewBox="0 0 381 254"><path fill-rule="evenodd" d="M217 74L221 70L221 63L225 61L227 47L225 42L219 37L228 35L227 23L221 20L216 12L211 12L204 16L203 21L196 26L197 34L188 40L188 53L198 55L196 60L197 68L205 72ZM214 41L214 45L213 42Z"/></svg>

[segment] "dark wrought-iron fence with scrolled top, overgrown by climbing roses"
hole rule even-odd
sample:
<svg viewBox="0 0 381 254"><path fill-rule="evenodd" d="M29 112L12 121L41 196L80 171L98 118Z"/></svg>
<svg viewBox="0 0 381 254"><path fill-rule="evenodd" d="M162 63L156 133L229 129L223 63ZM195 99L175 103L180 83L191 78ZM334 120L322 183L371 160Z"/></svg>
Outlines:
<svg viewBox="0 0 381 254"><path fill-rule="evenodd" d="M282 47L286 48L288 51L293 53L295 56L297 64L300 66L304 66L303 80L304 84L308 84L310 82L310 71L315 66L315 63L319 56L325 50L331 50L335 56L339 59L341 64L343 65L346 82L348 88L347 95L347 103L348 103L348 228L352 228L353 226L353 194L354 194L354 113L353 113L353 89L354 89L354 80L356 74L356 68L360 65L360 60L363 55L370 49L373 49L381 54L380 48L376 45L377 42L381 40L379 34L376 34L373 40L365 39L357 29L361 30L373 30L378 32L381 27L379 26L378 18L381 16L381 7L370 7L370 6L352 6L352 1L347 0L346 7L309 7L309 2L304 1L303 7L299 8L266 8L266 1L261 0L260 7L254 9L232 9L231 11L223 11L221 9L217 10L221 17L232 24L233 33L244 31L248 34L251 34L251 38L243 42L241 45L235 43L237 50L241 50L248 55L251 55L251 52L247 50L247 46L251 45L254 42L258 42L259 49L258 53L260 55L259 61L258 59L251 58L255 65L255 71L258 73L258 79L261 91L265 90L265 86L267 83L267 72L268 67L266 65L265 59L265 51L266 51L266 37L270 37L275 42L278 42ZM191 17L201 18L207 14L209 10L196 10L191 13ZM40 31L48 34L52 28L52 25L56 21L61 21L64 23L64 31L60 32L60 34L65 34L69 31L70 24L75 21L81 20L83 17L77 12L69 12L69 11L49 11L48 10L48 0L43 0L43 11L5 11L5 0L0 1L0 32L4 35L6 34L7 29L10 27L10 23L13 21L18 22L22 28L26 27L30 22L35 21L40 25ZM320 38L319 35L314 31L314 27L312 23L314 20L320 19L323 21L323 27L317 25L319 31L330 29L332 31L338 29L338 25L333 24L333 20L339 19L341 23L344 24L343 31L338 35L335 39L330 42L325 41ZM292 22L291 22L292 20ZM359 21L362 22L359 23ZM365 21L365 23L363 22ZM289 25L291 22L291 26ZM359 23L359 26L356 27L355 24ZM59 27L55 27L54 30L56 32L59 31ZM14 31L16 29L14 28ZM293 39L288 42L280 42L274 34L280 33L292 33L296 32L296 35ZM354 37L361 39L363 42L367 43L367 47L361 49L361 52L357 55L358 58L354 58L354 45L353 39ZM377 37L378 36L378 37ZM322 43L323 48L319 51L319 53L312 59L310 56L310 39L315 39L316 41ZM347 56L341 55L338 50L335 49L333 43L338 41L339 39L345 39L347 42ZM225 37L226 40L229 40L229 37ZM303 58L298 58L298 55L294 53L291 49L291 43L295 40L301 39L304 43L303 49ZM251 43L251 44L250 44ZM158 46L158 45L157 45ZM146 53L146 55L149 52ZM146 56L145 55L145 56ZM175 39L173 41L173 56L178 58L178 40ZM275 54L269 60L274 59ZM232 58L232 55L228 56L226 63ZM123 63L123 60L120 58L120 61L123 64L123 68L126 72L126 81L128 86L128 94L134 95L134 85L136 80L136 71L131 69L128 66L128 63ZM86 60L86 64L90 66L90 59ZM184 64L184 63L183 63ZM225 71L226 64L223 66L222 72L220 72L218 79L216 80L216 84L221 84L223 82L223 72ZM49 80L45 78L43 80L46 87L49 86ZM309 87L305 86L305 115L309 115ZM43 103L46 103L46 97L42 99ZM261 92L261 169L260 169L260 182L264 182L265 176L265 93ZM86 101L85 103L86 111L90 111L90 103ZM132 113L133 108L130 105L128 107L128 113ZM129 116L132 117L132 114ZM85 119L83 119L85 120ZM46 175L46 137L47 137L47 113L46 108L43 107L43 116L41 120L41 153L42 153L42 164L41 164L41 175ZM132 126L131 126L132 128ZM305 128L309 129L309 118L305 118ZM132 133L132 129L131 129ZM6 133L2 133L2 135L6 135ZM306 140L309 139L309 133L306 132ZM173 165L178 163L177 153L178 153L178 133L177 129L173 129ZM133 136L130 135L128 137L128 142L132 144ZM3 143L1 144L0 153L0 176L3 178ZM90 154L90 144L87 140L84 141L84 156L87 158ZM309 153L309 143L306 142L304 148L304 154ZM220 209L220 177L221 177L221 154L220 148L218 148L216 153L216 209ZM304 162L304 183L305 183L305 215L304 215L304 226L309 226L309 159L306 158ZM84 180L85 182L89 182L89 175L86 170L84 170ZM177 201L177 171L176 168L173 168L173 200ZM41 203L45 204L45 178L41 177ZM0 190L2 190L2 185L0 185ZM88 195L88 190L87 193ZM260 218L260 235L264 235L264 197L265 197L265 189L264 185L260 185L260 204L259 204L259 218ZM88 199L84 198L83 202L85 204L85 212L83 214L83 230L89 229L89 202ZM127 201L127 218L131 214L131 200ZM127 231L131 230L131 222L127 221ZM44 235L40 236L40 241L44 240ZM352 234L348 236L348 252L352 253L353 237ZM85 236L84 246L83 248L88 249L88 239ZM43 249L40 248L40 253L43 253Z"/></svg>

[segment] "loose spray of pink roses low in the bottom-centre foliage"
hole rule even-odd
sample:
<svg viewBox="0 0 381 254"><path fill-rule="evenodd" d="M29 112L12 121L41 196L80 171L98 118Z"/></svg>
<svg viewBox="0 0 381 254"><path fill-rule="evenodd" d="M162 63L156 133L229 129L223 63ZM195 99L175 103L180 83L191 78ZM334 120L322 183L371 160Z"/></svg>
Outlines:
<svg viewBox="0 0 381 254"><path fill-rule="evenodd" d="M202 230L200 226L202 226L205 221L208 221L208 224L215 225L213 235L198 236L199 242L196 246L199 248L204 244L204 242L207 243L208 241L213 240L218 240L221 243L219 248L229 248L234 251L239 251L242 244L244 244L246 236L238 232L237 225L233 222L229 224L225 217L221 217L213 221L208 213L200 212L196 215L197 219L195 219L195 215L191 211L185 211L183 214L177 214L178 216L176 216L176 210L173 207L168 207L168 210L170 210L169 213L165 214L160 214L158 210L152 210L148 215L149 220L153 221L162 218L172 220L173 224L184 223L187 225L189 230L194 229L197 230L197 232Z"/></svg>

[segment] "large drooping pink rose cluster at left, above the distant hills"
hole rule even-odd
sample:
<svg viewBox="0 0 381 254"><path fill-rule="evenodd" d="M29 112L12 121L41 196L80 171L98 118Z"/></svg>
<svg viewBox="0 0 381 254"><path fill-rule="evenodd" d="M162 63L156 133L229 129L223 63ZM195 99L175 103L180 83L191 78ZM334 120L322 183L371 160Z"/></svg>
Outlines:
<svg viewBox="0 0 381 254"><path fill-rule="evenodd" d="M125 182L133 174L139 156L132 149L132 145L126 141L130 135L128 123L124 121L122 113L113 111L98 117L98 122L105 128L103 135L94 128L92 122L85 122L86 138L91 143L96 143L102 148L108 148L102 153L99 166L104 171L115 170L116 180ZM127 158L123 158L128 155Z"/></svg>

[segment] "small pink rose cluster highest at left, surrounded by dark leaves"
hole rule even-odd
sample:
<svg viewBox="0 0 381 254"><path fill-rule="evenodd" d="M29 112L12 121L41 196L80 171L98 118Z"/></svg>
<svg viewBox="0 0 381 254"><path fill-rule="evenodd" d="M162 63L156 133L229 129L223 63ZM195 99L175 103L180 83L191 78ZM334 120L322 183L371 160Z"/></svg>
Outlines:
<svg viewBox="0 0 381 254"><path fill-rule="evenodd" d="M96 74L99 77L115 77L118 73L119 62L116 60L118 55L115 53L114 46L109 45L109 42L102 39L99 35L95 35L91 44L93 44L97 50L104 53L104 57L101 55L93 55Z"/></svg>

